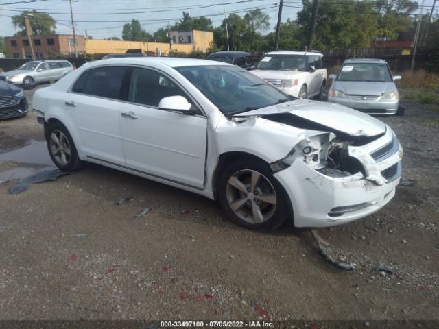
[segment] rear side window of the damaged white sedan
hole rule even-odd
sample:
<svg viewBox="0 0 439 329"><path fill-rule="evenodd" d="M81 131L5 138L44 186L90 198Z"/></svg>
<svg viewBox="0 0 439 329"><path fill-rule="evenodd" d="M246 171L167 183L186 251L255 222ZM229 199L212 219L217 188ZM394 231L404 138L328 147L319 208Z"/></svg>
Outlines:
<svg viewBox="0 0 439 329"><path fill-rule="evenodd" d="M75 82L72 91L112 99L121 98L125 66L104 66L85 72ZM82 79L85 81L83 82Z"/></svg>

